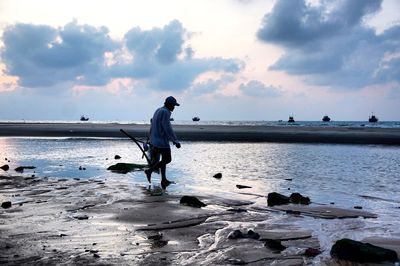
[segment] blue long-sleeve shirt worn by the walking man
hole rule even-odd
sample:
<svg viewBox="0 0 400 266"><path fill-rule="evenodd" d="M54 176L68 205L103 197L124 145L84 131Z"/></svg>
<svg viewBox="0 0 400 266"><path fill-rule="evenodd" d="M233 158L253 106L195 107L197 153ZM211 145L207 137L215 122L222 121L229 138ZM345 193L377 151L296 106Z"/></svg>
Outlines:
<svg viewBox="0 0 400 266"><path fill-rule="evenodd" d="M150 129L150 143L157 148L170 148L169 141L179 142L171 126L171 111L163 106L153 115Z"/></svg>

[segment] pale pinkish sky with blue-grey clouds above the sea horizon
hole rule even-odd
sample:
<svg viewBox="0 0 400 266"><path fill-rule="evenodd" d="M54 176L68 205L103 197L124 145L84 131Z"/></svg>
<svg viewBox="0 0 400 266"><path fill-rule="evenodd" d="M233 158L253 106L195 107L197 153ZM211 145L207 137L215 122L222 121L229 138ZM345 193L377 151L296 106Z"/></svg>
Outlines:
<svg viewBox="0 0 400 266"><path fill-rule="evenodd" d="M0 0L0 120L400 120L397 0Z"/></svg>

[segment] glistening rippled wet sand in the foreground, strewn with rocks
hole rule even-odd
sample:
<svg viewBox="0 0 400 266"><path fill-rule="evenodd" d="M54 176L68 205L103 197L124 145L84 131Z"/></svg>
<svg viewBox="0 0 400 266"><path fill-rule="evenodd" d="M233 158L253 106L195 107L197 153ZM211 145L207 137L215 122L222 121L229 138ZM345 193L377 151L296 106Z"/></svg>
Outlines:
<svg viewBox="0 0 400 266"><path fill-rule="evenodd" d="M328 205L269 208L260 195L241 201L191 195L208 205L194 208L179 204L181 195L159 192L136 185L127 175L118 179L0 175L0 201L12 202L10 208L0 208L0 264L347 265L330 258L329 248L320 246L318 232L300 228L296 220L303 215L321 223L376 217ZM260 202L265 208L256 207ZM327 212L329 217L324 217ZM234 230L247 234L250 229L258 239L229 237ZM377 237L370 241L400 250L399 239ZM271 240L285 250L267 245ZM322 254L314 258L307 255L308 249Z"/></svg>

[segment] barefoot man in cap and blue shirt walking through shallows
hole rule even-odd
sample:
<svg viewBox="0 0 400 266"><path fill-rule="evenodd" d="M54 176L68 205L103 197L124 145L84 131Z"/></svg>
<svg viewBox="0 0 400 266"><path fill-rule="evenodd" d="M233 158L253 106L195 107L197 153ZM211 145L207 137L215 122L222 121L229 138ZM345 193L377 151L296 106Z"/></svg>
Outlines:
<svg viewBox="0 0 400 266"><path fill-rule="evenodd" d="M150 126L150 144L152 146L152 157L159 157L161 160L157 163L150 165L150 168L145 170L145 174L149 183L151 183L151 173L158 168L161 170L161 187L165 189L171 182L166 177L167 164L171 162L171 148L169 142L179 149L181 144L176 137L174 130L171 126L171 112L174 111L175 106L179 106L176 99L169 96L165 99L164 106L158 108L151 120Z"/></svg>

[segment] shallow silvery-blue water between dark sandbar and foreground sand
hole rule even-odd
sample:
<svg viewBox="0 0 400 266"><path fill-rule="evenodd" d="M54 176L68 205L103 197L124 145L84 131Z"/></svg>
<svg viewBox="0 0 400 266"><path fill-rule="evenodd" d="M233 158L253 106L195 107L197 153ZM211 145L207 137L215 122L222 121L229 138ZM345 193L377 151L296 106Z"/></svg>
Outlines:
<svg viewBox="0 0 400 266"><path fill-rule="evenodd" d="M122 158L114 159L115 155ZM383 145L183 142L172 148L167 176L176 182L169 194L260 199L276 191L299 192L314 204L376 213L377 219L303 219L296 225L312 229L322 247L342 237L400 238L400 147ZM17 174L17 166L35 166L24 174L55 178L129 178L147 186L141 171L117 174L107 167L118 162L146 163L140 150L126 139L0 138L0 166ZM79 169L85 170L79 170ZM213 178L221 173L221 179ZM153 186L160 177L153 175ZM236 185L250 189L239 190ZM244 193L246 192L246 193ZM265 204L255 200L255 204ZM262 207L262 206L260 206ZM290 218L288 218L290 220Z"/></svg>

